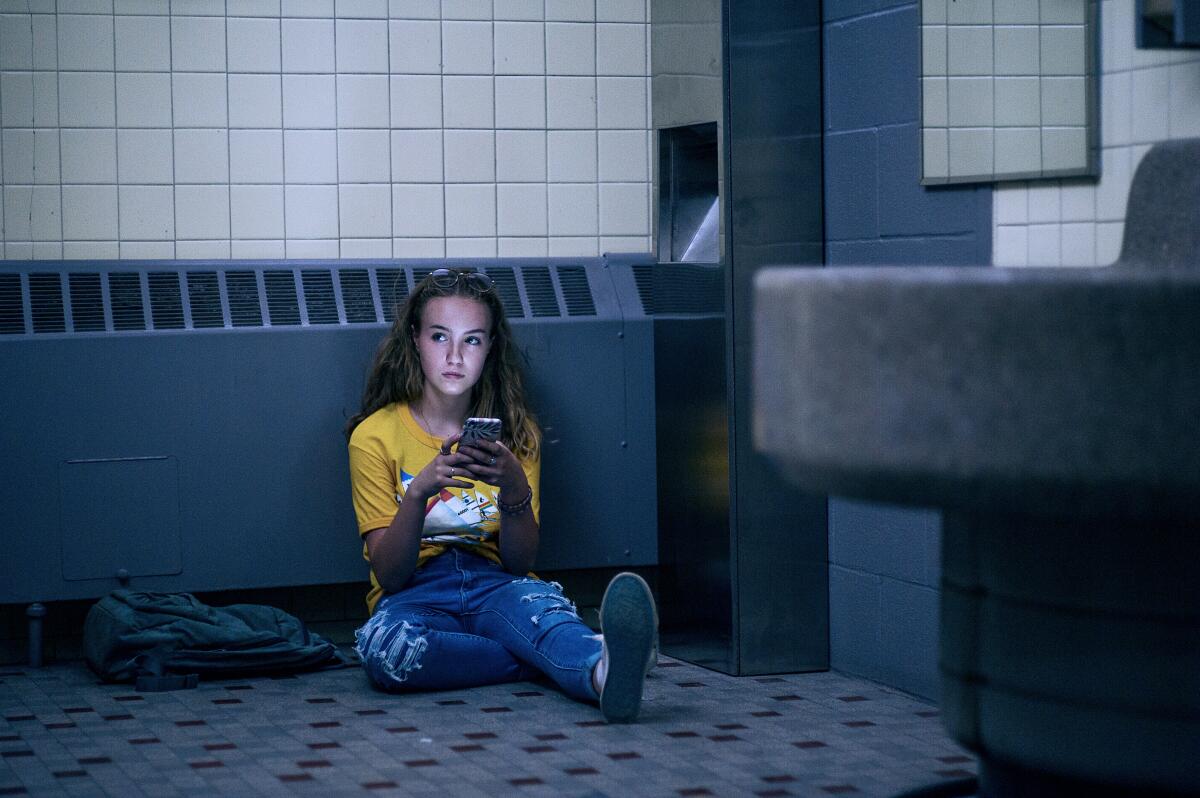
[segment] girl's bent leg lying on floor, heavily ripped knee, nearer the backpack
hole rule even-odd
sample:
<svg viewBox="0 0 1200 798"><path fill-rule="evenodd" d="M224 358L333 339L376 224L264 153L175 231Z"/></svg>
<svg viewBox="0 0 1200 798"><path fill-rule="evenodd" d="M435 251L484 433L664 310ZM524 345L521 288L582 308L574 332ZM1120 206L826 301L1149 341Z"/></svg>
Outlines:
<svg viewBox="0 0 1200 798"><path fill-rule="evenodd" d="M362 667L380 690L449 690L536 674L487 637L468 634L458 618L384 596L355 632Z"/></svg>

